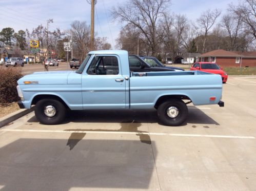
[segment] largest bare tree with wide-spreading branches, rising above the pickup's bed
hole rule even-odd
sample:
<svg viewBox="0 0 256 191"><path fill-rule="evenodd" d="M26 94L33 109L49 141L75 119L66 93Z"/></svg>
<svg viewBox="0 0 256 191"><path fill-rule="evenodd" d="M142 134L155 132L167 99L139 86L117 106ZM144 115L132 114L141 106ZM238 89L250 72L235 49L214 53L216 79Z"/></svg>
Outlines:
<svg viewBox="0 0 256 191"><path fill-rule="evenodd" d="M158 39L161 37L157 33L160 28L159 19L163 17L169 3L170 0L130 0L128 3L114 8L112 15L114 18L120 19L121 22L139 28L152 55L156 55Z"/></svg>

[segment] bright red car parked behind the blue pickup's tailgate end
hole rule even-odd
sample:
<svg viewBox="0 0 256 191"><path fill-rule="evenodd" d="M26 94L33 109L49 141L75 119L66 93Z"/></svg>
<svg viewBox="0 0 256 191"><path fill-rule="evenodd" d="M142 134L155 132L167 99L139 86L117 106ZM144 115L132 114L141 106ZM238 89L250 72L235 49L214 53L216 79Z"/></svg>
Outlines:
<svg viewBox="0 0 256 191"><path fill-rule="evenodd" d="M225 71L222 70L222 68L217 65L216 63L212 62L195 62L193 66L190 68L190 70L200 70L208 73L213 74L220 74L222 77L222 82L226 83L228 80L228 75Z"/></svg>

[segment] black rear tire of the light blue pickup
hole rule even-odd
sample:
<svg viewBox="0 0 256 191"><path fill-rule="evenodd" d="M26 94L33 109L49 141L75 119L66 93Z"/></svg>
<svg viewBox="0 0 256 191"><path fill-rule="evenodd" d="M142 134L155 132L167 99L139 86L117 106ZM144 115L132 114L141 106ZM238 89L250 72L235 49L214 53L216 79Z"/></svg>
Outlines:
<svg viewBox="0 0 256 191"><path fill-rule="evenodd" d="M169 112L169 115L172 116L168 115L168 109L174 112ZM176 111L178 111L178 113ZM157 109L157 115L164 125L179 126L184 123L188 117L188 107L182 100L171 99L162 102L159 105L159 108Z"/></svg>

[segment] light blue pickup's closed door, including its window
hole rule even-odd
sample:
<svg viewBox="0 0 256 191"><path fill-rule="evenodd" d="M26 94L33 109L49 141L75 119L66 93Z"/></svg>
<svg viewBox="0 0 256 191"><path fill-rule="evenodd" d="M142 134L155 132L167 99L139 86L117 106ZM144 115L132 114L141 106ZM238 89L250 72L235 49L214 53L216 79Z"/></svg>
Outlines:
<svg viewBox="0 0 256 191"><path fill-rule="evenodd" d="M82 76L84 109L125 109L126 80L116 55L97 55Z"/></svg>

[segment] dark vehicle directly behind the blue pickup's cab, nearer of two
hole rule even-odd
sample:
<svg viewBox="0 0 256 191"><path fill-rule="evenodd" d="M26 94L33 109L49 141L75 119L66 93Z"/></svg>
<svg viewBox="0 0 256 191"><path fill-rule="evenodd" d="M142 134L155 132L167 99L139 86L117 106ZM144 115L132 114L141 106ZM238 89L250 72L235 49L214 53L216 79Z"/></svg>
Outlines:
<svg viewBox="0 0 256 191"><path fill-rule="evenodd" d="M151 67L149 63L144 61L137 55L129 55L129 66L132 72L154 72L154 71L175 71L172 67L154 66Z"/></svg>

